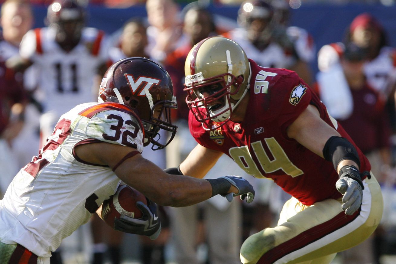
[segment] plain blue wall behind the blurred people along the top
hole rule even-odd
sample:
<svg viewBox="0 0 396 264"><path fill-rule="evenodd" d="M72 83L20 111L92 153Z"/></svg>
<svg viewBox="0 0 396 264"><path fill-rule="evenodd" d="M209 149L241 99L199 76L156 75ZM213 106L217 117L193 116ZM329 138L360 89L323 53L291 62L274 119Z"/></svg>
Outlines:
<svg viewBox="0 0 396 264"><path fill-rule="evenodd" d="M183 8L187 3L181 3ZM214 14L231 19L236 22L239 5L209 4L208 9ZM146 17L144 4L136 4L128 8L106 8L102 5L91 4L87 7L88 26L104 30L112 34L131 17ZM47 8L44 5L34 6L34 27L44 27L44 17ZM303 3L299 8L291 9L291 26L306 29L314 38L316 51L325 44L342 41L345 29L356 15L370 12L385 28L389 46L396 47L396 6L383 6L382 4L313 4ZM311 64L312 72L318 71L317 62ZM313 75L315 76L315 75Z"/></svg>

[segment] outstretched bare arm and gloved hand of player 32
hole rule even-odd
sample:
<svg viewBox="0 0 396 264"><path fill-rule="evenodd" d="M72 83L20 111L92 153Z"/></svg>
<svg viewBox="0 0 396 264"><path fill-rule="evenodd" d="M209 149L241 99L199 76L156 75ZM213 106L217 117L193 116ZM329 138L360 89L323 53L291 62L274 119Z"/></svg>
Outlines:
<svg viewBox="0 0 396 264"><path fill-rule="evenodd" d="M135 151L131 147L102 142L80 145L75 151L78 157L86 162L110 166L123 182L159 205L188 206L205 201L217 194L242 195L253 191L250 185L247 189L246 186L242 186L243 183L248 184L246 180L237 182L235 186L229 180L224 179L223 184L216 185L215 188L208 180L171 175L151 161L144 159L140 154L133 155L116 167L128 153Z"/></svg>

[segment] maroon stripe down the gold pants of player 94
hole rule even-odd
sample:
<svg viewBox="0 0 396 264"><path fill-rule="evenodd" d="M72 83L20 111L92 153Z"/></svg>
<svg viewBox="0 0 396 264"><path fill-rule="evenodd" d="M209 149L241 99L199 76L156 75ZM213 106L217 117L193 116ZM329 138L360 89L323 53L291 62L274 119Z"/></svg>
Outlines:
<svg viewBox="0 0 396 264"><path fill-rule="evenodd" d="M274 247L273 249L270 249L269 251L264 253L263 256L261 256L257 264L272 264L283 256L286 256L293 251L301 249L309 245L310 243L313 243L318 239L321 239L322 237L333 233L336 230L339 230L343 226L346 226L347 224L355 220L356 217L359 216L359 214L360 209L351 216L346 215L344 211L340 212L330 220L320 225L314 226L313 228L305 230L296 237L293 237L292 239L289 239L288 241Z"/></svg>

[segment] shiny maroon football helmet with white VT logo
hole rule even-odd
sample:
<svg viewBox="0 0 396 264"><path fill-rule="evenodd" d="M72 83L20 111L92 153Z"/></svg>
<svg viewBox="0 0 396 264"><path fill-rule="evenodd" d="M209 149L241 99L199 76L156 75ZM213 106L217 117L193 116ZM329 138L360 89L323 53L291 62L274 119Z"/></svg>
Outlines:
<svg viewBox="0 0 396 264"><path fill-rule="evenodd" d="M176 109L173 85L167 71L158 63L141 57L120 59L107 69L99 89L99 102L116 102L131 107L145 130L145 146L163 149L175 136L170 109ZM160 143L159 130L171 133Z"/></svg>

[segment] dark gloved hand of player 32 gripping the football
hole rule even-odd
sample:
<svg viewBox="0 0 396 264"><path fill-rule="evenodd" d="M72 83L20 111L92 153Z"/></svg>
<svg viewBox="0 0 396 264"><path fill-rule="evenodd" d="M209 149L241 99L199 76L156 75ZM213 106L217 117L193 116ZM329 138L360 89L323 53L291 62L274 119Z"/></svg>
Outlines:
<svg viewBox="0 0 396 264"><path fill-rule="evenodd" d="M161 221L157 216L157 205L147 199L147 205L139 201L136 207L142 211L143 216L139 219L126 215L114 220L114 229L125 233L147 235L154 240L160 235Z"/></svg>

